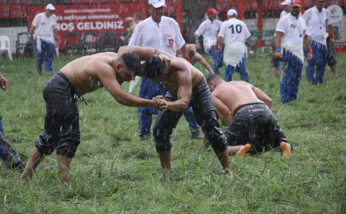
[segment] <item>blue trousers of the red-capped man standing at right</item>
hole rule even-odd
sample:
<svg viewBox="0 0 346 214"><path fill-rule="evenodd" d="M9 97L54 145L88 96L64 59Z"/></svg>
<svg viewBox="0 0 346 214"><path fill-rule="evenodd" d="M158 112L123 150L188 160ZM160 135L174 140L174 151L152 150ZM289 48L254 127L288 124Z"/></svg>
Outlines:
<svg viewBox="0 0 346 214"><path fill-rule="evenodd" d="M284 50L283 60L279 61L281 102L297 99L303 63L290 51Z"/></svg>

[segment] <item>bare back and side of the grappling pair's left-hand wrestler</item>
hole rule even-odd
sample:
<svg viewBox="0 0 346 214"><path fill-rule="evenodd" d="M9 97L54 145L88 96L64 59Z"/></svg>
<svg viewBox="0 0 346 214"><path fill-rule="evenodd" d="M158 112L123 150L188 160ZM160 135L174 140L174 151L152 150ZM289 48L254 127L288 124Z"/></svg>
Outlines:
<svg viewBox="0 0 346 214"><path fill-rule="evenodd" d="M113 52L84 56L66 64L60 73L70 80L79 95L84 95L103 87L100 75L117 81L113 66L118 57L119 55Z"/></svg>

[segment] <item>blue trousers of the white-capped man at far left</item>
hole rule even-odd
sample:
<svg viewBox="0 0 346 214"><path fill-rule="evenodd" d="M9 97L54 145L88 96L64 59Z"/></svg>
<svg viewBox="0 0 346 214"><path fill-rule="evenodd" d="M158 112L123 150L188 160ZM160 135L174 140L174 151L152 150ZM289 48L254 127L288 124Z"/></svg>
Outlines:
<svg viewBox="0 0 346 214"><path fill-rule="evenodd" d="M51 72L53 70L53 61L55 54L55 45L54 43L49 43L41 39L41 52L37 48L37 39L33 43L33 50L38 52L37 57L37 72L42 73L42 64L43 60L46 61L45 72Z"/></svg>

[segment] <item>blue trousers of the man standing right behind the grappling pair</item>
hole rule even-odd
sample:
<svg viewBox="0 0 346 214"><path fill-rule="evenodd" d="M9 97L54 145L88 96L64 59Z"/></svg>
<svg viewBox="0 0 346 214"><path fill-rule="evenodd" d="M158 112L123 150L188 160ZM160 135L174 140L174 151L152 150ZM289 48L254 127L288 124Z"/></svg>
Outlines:
<svg viewBox="0 0 346 214"><path fill-rule="evenodd" d="M142 83L140 87L140 97L144 99L151 99L152 97L156 97L158 95L165 96L167 90L162 86L161 83L152 83L149 78L142 78ZM153 115L158 114L158 110L153 108L141 107L138 110L138 122L140 126L140 136L150 135L151 124ZM199 128L193 111L191 108L188 108L184 112L184 117L186 121L189 123L190 128Z"/></svg>

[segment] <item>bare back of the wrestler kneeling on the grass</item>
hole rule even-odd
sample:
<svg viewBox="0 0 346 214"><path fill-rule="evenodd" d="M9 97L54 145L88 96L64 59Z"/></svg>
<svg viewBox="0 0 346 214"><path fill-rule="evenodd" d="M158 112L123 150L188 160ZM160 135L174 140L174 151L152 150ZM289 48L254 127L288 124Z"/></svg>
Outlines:
<svg viewBox="0 0 346 214"><path fill-rule="evenodd" d="M223 82L214 89L212 95L225 103L234 116L235 111L241 105L253 102L264 103L257 98L252 89L252 85L243 81Z"/></svg>

